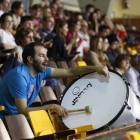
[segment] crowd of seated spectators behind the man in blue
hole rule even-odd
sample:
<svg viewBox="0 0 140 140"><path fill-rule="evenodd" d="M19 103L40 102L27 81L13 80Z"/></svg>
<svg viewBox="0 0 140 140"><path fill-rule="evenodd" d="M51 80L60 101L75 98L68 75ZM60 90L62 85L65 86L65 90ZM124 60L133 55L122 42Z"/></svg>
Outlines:
<svg viewBox="0 0 140 140"><path fill-rule="evenodd" d="M124 26L114 23L106 14L101 16L102 9L92 4L80 13L63 9L60 0L42 0L30 7L28 14L19 1L11 4L10 0L0 0L0 5L1 78L23 63L24 46L34 41L45 46L53 61L82 60L87 65L107 66L121 75L131 67L132 53L121 47L122 42L129 40ZM131 80L129 77L128 81ZM50 81L53 89L60 84L55 79ZM131 87L140 96L139 82L136 84Z"/></svg>

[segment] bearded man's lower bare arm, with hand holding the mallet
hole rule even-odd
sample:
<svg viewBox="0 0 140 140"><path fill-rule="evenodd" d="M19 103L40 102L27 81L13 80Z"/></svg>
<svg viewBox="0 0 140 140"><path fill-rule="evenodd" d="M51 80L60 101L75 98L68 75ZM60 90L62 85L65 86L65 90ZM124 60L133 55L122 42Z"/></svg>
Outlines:
<svg viewBox="0 0 140 140"><path fill-rule="evenodd" d="M54 112L58 113L59 116L66 116L68 114L67 110L59 106L57 104L49 104L39 107L27 107L27 99L26 98L15 98L15 104L19 114L24 114L28 116L28 112L30 111L37 111L37 110L53 110Z"/></svg>

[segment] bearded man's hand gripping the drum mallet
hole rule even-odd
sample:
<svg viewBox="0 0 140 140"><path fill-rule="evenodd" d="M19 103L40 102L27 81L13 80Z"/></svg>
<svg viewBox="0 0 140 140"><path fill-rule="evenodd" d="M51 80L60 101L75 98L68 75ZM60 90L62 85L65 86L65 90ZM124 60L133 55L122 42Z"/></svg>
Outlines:
<svg viewBox="0 0 140 140"><path fill-rule="evenodd" d="M51 110L56 112L61 117L65 117L68 114L68 111L66 110L66 108L64 108L60 105L52 104L51 108L52 108Z"/></svg>

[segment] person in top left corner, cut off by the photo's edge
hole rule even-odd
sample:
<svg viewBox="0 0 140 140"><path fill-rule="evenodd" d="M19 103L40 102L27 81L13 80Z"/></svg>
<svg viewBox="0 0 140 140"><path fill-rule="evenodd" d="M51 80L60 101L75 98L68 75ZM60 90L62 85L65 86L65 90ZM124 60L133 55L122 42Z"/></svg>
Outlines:
<svg viewBox="0 0 140 140"><path fill-rule="evenodd" d="M0 0L0 16L11 10L11 0Z"/></svg>

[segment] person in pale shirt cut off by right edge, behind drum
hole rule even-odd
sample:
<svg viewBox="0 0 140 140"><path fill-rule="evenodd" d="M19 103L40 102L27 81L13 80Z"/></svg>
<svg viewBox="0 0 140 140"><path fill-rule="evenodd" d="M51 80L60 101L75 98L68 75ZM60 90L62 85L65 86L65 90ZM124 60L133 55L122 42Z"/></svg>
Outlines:
<svg viewBox="0 0 140 140"><path fill-rule="evenodd" d="M133 55L131 58L131 67L124 72L130 87L137 97L140 98L140 54Z"/></svg>

